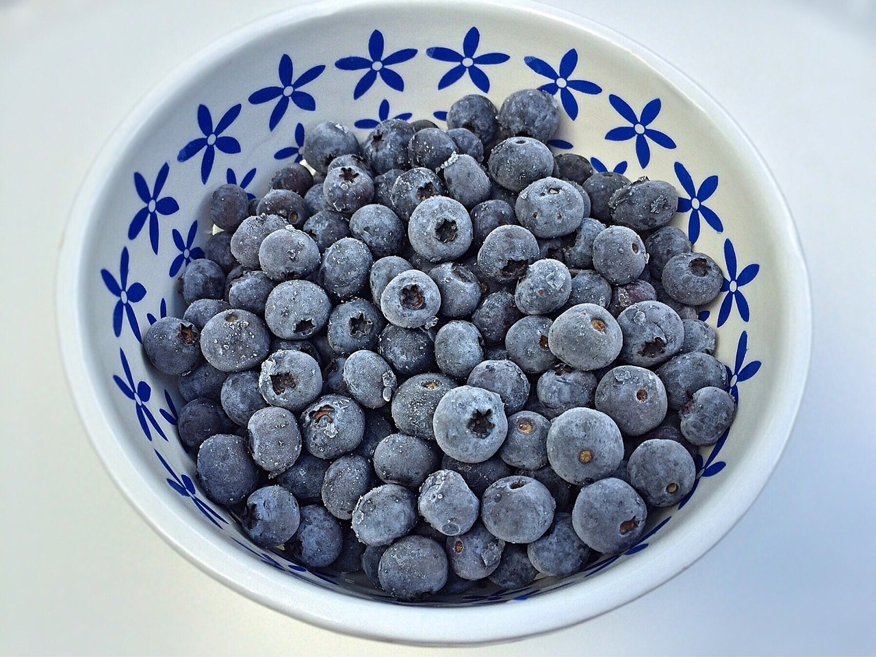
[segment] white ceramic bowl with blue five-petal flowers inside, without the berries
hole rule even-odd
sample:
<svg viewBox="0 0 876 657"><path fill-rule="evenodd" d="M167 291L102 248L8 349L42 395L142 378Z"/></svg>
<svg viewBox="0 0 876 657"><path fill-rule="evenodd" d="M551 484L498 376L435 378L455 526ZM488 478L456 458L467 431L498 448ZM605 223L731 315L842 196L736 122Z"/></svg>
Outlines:
<svg viewBox="0 0 876 657"><path fill-rule="evenodd" d="M338 66L350 57L359 59ZM171 378L145 363L139 342L155 317L182 312L176 277L210 233L208 193L233 180L264 194L272 173L299 157L303 135L324 120L355 124L364 137L378 119L436 119L465 94L498 104L517 88L545 84L562 102L555 150L572 147L631 179L673 181L682 197L674 223L727 275L708 321L717 328L716 355L729 365L738 417L725 441L703 449L694 494L650 518L635 548L577 576L523 590L473 589L427 605L392 602L348 577L310 573L254 547L195 482L175 433L180 397ZM253 96L270 87L277 90ZM392 641L546 632L675 576L766 483L809 364L809 288L795 229L736 124L629 39L530 4L312 4L221 39L148 95L102 152L67 229L58 286L60 339L82 419L145 519L252 599L338 632Z"/></svg>

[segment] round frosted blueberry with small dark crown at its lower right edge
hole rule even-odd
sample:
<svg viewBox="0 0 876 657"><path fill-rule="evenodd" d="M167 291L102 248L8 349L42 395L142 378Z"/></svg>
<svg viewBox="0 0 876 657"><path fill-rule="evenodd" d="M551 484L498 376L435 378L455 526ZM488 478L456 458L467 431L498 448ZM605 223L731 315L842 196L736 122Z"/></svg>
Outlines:
<svg viewBox="0 0 876 657"><path fill-rule="evenodd" d="M265 323L275 336L303 340L329 323L329 295L308 280L287 280L265 300Z"/></svg>

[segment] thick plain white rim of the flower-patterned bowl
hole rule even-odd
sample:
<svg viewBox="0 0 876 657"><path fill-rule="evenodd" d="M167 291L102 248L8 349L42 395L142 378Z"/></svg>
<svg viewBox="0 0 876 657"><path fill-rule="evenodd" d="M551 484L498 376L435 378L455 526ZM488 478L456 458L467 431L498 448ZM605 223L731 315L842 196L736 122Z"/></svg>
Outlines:
<svg viewBox="0 0 876 657"><path fill-rule="evenodd" d="M200 77L204 69L214 65L216 60L230 58L258 35L281 32L311 18L356 11L375 4L381 7L409 7L416 3L414 0L387 0L378 3L374 0L329 0L301 4L258 18L216 39L175 68L173 73L144 95L112 131L77 194L60 248L55 281L56 321L67 384L90 442L110 478L134 509L180 555L246 597L331 631L410 644L464 645L496 642L575 625L631 602L667 582L689 568L736 525L763 490L788 442L801 403L811 350L809 276L788 203L767 163L729 113L695 81L663 60L660 55L610 27L575 12L533 0L513 0L511 3L499 0L450 0L449 3L441 3L442 7L450 5L470 11L502 10L535 15L588 32L597 39L604 39L611 45L632 53L644 67L661 76L689 101L707 111L714 123L723 129L724 137L736 146L738 152L743 153L743 159L749 160L752 168L759 170L762 191L772 201L773 207L770 210L777 217L776 229L781 232L781 237L788 246L783 266L794 272L795 279L799 281L799 285L792 290L793 299L788 300L788 322L798 331L795 342L788 346L788 385L778 392L779 399L775 405L777 410L769 422L770 441L764 446L768 449L761 455L763 461L759 463L759 468L745 472L741 480L745 485L738 486L738 495L722 500L720 512L714 513L706 525L698 525L696 533L686 532L676 537L687 549L676 550L674 555L664 560L661 568L645 569L639 565L642 563L641 559L625 560L601 576L589 580L585 595L582 595L584 587L570 586L529 598L525 604L511 601L463 608L406 604L389 606L384 601L339 595L334 590L323 589L289 576L283 577L287 587L294 590L295 595L283 598L277 593L286 586L277 585L279 574L271 566L255 560L240 560L236 553L232 554L229 548L220 545L221 540L208 539L198 528L192 526L184 515L176 511L179 507L159 501L160 498L155 495L155 489L148 478L126 454L124 443L117 440L113 421L93 394L93 390L97 389L97 382L102 380L99 376L102 372L97 371L94 363L88 362L84 349L82 290L87 263L81 258L81 252L94 230L89 224L89 218L94 215L98 199L103 193L105 180L108 180L107 174L117 159L124 155L131 142L129 135L147 122L153 108L171 102L190 81Z"/></svg>

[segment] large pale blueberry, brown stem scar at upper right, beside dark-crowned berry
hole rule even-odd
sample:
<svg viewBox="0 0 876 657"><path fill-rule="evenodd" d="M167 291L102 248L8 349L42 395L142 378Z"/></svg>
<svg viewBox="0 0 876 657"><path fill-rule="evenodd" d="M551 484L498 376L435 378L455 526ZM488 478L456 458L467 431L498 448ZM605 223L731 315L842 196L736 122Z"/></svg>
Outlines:
<svg viewBox="0 0 876 657"><path fill-rule="evenodd" d="M602 306L582 303L557 317L548 331L554 355L577 370L597 370L618 357L623 334Z"/></svg>

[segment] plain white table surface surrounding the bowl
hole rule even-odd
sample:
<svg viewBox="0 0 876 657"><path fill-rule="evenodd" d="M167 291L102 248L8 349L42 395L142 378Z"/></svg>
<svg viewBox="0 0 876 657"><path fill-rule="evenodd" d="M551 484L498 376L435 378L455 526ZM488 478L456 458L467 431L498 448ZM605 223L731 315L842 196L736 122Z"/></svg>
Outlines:
<svg viewBox="0 0 876 657"><path fill-rule="evenodd" d="M876 7L552 0L661 53L717 98L788 197L814 348L794 433L751 511L649 595L471 650L304 625L196 569L91 449L53 286L74 194L109 132L181 61L294 0L0 0L0 653L876 653ZM794 336L788 336L793 340Z"/></svg>

